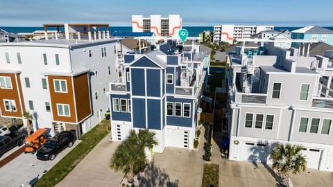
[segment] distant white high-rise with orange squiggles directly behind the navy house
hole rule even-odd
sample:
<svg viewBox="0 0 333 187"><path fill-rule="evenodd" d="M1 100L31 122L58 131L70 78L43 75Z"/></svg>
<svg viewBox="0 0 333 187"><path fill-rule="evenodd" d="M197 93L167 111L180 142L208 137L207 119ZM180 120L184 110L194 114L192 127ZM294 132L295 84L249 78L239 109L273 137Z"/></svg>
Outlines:
<svg viewBox="0 0 333 187"><path fill-rule="evenodd" d="M178 37L178 31L182 29L182 18L180 15L132 15L132 30L134 33L155 33L156 36Z"/></svg>

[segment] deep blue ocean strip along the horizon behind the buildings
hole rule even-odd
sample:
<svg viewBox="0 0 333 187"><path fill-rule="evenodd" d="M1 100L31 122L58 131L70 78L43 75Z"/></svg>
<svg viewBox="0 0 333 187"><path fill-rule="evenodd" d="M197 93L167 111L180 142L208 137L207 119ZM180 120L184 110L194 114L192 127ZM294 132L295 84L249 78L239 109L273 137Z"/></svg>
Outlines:
<svg viewBox="0 0 333 187"><path fill-rule="evenodd" d="M10 33L33 33L35 30L44 30L44 27L18 27L18 26L0 26L3 30L6 30ZM203 33L204 30L213 30L212 26L183 26L182 28L185 28L189 31L189 37L198 37L199 33ZM296 30L301 27L296 26L275 26L275 30L281 30L281 29L288 29L288 30ZM328 28L330 30L333 30L332 26L324 27ZM56 30L56 29L54 29ZM110 26L110 33L114 33L114 31L120 32L120 31L126 31L131 32L132 27L131 26Z"/></svg>

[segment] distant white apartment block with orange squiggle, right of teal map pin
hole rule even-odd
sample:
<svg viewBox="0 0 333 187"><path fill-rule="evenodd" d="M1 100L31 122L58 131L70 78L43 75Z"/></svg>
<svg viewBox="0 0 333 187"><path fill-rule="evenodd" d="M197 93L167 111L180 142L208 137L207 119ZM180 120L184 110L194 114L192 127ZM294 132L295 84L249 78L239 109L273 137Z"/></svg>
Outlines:
<svg viewBox="0 0 333 187"><path fill-rule="evenodd" d="M213 42L228 42L232 44L234 39L250 38L263 30L274 30L274 26L214 26Z"/></svg>

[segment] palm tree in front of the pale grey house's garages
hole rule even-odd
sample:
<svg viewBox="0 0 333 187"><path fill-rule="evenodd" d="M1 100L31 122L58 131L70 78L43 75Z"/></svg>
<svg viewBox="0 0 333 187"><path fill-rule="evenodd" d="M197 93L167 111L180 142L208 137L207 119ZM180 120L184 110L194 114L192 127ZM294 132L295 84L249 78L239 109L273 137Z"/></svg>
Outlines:
<svg viewBox="0 0 333 187"><path fill-rule="evenodd" d="M289 186L289 174L298 174L305 171L307 161L302 155L303 148L301 145L284 145L278 143L271 152L273 159L273 169L278 170L278 175L282 179L283 186Z"/></svg>

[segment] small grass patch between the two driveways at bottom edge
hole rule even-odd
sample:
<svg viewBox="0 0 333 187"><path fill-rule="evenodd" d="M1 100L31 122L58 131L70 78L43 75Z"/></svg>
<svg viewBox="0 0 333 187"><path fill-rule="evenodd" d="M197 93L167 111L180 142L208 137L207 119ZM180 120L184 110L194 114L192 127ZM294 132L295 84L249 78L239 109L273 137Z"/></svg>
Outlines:
<svg viewBox="0 0 333 187"><path fill-rule="evenodd" d="M205 163L202 187L219 187L219 164Z"/></svg>

